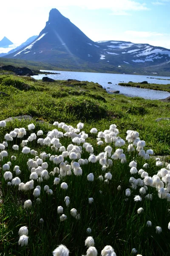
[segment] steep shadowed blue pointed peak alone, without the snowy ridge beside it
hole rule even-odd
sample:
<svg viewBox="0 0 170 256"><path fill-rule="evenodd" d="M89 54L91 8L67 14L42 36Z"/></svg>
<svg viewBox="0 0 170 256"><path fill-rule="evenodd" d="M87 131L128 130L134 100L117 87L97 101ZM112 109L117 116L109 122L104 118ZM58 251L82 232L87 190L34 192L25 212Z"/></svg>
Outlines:
<svg viewBox="0 0 170 256"><path fill-rule="evenodd" d="M39 61L56 62L57 58L80 58L89 61L99 60L99 53L94 42L91 41L68 18L57 9L52 9L46 26L38 38L22 51L8 55L8 58L21 58Z"/></svg>

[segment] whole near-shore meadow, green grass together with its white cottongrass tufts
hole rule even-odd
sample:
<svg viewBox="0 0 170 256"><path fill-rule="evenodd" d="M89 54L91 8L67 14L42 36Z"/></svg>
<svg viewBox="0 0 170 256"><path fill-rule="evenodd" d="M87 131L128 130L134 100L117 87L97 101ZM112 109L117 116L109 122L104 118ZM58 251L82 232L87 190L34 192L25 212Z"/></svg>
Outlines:
<svg viewBox="0 0 170 256"><path fill-rule="evenodd" d="M12 75L0 91L0 120L34 117L0 122L0 256L169 255L170 103Z"/></svg>

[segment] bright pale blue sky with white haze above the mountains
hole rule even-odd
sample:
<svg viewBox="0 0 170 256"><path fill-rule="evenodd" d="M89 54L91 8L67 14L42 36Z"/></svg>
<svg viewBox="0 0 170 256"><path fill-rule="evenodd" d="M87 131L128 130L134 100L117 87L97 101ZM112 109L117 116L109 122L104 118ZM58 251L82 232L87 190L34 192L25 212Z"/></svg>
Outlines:
<svg viewBox="0 0 170 256"><path fill-rule="evenodd" d="M6 36L19 45L39 35L52 8L93 41L131 41L170 49L170 0L3 1L0 40Z"/></svg>

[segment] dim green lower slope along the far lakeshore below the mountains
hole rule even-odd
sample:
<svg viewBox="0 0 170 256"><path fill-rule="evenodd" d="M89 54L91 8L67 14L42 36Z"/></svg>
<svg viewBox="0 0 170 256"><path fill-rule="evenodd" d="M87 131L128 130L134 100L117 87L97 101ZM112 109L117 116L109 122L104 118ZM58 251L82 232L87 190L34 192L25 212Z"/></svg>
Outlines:
<svg viewBox="0 0 170 256"><path fill-rule="evenodd" d="M108 64L102 60L98 63L85 62L78 58L74 61L70 58L61 58L51 62L48 59L44 62L27 61L20 59L0 58L0 65L13 65L20 67L28 67L33 70L63 70L63 71L77 71L77 72L99 72L99 73L113 73L113 74L132 74L132 75L144 75L144 76L170 76L168 68L155 67L144 67L139 65L138 67L128 66L122 64L118 67L116 64ZM166 66L166 65L164 65ZM162 67L164 67L162 66Z"/></svg>

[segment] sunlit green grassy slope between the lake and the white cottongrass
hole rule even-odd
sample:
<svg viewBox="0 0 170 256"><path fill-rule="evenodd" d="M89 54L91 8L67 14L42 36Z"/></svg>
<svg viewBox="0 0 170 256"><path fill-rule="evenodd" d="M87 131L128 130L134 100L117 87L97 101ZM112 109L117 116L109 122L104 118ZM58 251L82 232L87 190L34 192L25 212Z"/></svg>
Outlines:
<svg viewBox="0 0 170 256"><path fill-rule="evenodd" d="M28 86L26 86L28 85ZM28 88L27 88L28 87ZM140 130L155 154L169 154L170 103L145 100L138 97L108 94L93 82L56 81L44 83L30 77L0 76L0 119L29 114L50 123L55 120L87 123L87 129L106 128L116 122L122 136L127 129Z"/></svg>

